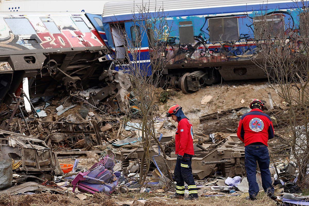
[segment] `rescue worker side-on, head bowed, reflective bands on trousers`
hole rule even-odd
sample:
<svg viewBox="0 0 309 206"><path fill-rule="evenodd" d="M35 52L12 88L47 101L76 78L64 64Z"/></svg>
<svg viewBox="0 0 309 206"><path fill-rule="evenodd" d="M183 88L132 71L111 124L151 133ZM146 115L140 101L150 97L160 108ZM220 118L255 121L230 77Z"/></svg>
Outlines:
<svg viewBox="0 0 309 206"><path fill-rule="evenodd" d="M189 196L185 200L198 199L197 187L193 179L191 167L191 160L194 155L192 124L188 117L184 115L182 107L179 105L172 105L166 115L167 117L172 117L175 122L178 122L175 135L177 161L174 170L176 193L170 197L184 197L184 182L186 182L188 184Z"/></svg>

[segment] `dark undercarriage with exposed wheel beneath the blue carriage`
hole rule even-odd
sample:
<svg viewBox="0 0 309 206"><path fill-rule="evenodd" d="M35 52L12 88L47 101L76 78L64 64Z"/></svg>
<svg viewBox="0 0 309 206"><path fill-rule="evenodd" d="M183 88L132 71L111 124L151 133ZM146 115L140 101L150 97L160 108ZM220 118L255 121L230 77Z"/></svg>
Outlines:
<svg viewBox="0 0 309 206"><path fill-rule="evenodd" d="M168 66L163 70L163 76L159 80L155 77L155 84L162 88L180 89L183 93L188 94L222 80L263 79L267 77L266 72L252 62L244 61L240 65L234 62L214 65L216 66L209 67L208 64L205 64L204 68L197 68L196 65L191 64L181 65L182 68L178 68L179 65ZM267 73L272 75L273 72L269 68Z"/></svg>

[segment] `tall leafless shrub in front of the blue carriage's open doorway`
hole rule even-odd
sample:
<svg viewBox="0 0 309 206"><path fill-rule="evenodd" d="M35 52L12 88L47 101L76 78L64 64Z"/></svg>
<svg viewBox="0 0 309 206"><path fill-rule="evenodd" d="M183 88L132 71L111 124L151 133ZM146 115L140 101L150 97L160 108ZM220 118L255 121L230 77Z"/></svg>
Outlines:
<svg viewBox="0 0 309 206"><path fill-rule="evenodd" d="M111 105L105 104L104 106L105 109L108 108L112 111L113 117L121 127L131 126L138 130L137 136L141 137L139 142L144 150L140 163L140 167L143 168L139 170L139 182L144 183L149 172L152 160L150 154L154 146L162 148L155 127L155 121L160 116L157 114L158 106L155 105L155 99L159 94L155 87L162 84L160 81L162 71L171 58L164 55L171 25L167 23L163 5L155 6L155 9L150 11L149 3L142 2L142 4L134 6L132 14L133 18L129 27L118 21L110 24L115 42L115 55L113 56L115 69L123 70L125 78L131 83L130 88L124 88L129 91L126 94L127 109L122 111L125 114L120 117ZM130 32L126 31L128 28ZM148 43L145 43L147 39ZM143 47L145 44L149 46L149 52L145 52L148 50ZM98 109L106 117L111 115L106 110L97 108L97 105L92 104L91 101L88 101L87 104ZM128 124L128 120L131 122L130 124ZM162 150L161 156L165 161L166 155ZM171 172L166 162L165 165L171 179Z"/></svg>

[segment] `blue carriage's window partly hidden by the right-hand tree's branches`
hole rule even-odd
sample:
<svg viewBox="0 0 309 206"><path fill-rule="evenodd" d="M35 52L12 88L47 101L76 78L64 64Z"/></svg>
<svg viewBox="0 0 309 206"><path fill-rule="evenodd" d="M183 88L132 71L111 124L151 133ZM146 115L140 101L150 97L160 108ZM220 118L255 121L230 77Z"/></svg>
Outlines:
<svg viewBox="0 0 309 206"><path fill-rule="evenodd" d="M255 39L275 38L278 31L284 30L284 19L281 14L254 17Z"/></svg>

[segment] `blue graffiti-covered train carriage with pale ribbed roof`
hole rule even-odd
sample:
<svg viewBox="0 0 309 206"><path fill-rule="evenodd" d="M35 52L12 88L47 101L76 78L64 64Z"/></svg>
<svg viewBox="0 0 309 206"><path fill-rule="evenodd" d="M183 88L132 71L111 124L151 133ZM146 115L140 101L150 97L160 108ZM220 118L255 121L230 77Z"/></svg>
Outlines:
<svg viewBox="0 0 309 206"><path fill-rule="evenodd" d="M171 55L163 71L162 85L180 88L184 93L197 91L201 86L218 80L245 80L265 78L251 58L258 58L254 25L259 29L261 15L269 15L269 25L287 28L299 22L301 2L269 0L235 1L124 1L108 2L104 6L100 29L102 38L116 55L124 52L123 45L113 38L115 23L125 28L126 35L134 38L132 11L142 3L163 5L168 24L172 25L165 55ZM267 9L267 10L265 10ZM252 24L254 22L254 25ZM141 64L150 64L147 35L143 35ZM134 40L134 39L133 39ZM118 55L119 57L119 55ZM120 57L121 58L121 57ZM115 66L118 69L118 66Z"/></svg>

